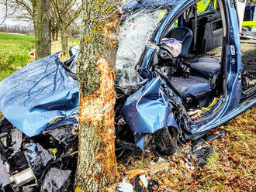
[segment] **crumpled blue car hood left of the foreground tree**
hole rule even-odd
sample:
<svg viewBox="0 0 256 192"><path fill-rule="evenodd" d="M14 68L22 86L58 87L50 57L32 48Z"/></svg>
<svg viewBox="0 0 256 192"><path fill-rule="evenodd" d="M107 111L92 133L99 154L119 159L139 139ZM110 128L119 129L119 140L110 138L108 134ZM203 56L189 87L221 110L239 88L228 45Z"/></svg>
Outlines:
<svg viewBox="0 0 256 192"><path fill-rule="evenodd" d="M64 120L62 125L74 123L78 82L61 66L58 55L36 60L0 82L2 114L28 136L40 134L57 119Z"/></svg>

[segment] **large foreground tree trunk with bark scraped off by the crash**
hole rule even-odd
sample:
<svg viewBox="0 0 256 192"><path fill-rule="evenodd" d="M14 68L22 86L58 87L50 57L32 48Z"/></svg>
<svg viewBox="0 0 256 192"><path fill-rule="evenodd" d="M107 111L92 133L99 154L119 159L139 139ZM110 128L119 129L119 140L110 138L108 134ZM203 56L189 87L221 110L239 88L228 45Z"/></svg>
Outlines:
<svg viewBox="0 0 256 192"><path fill-rule="evenodd" d="M99 191L116 182L114 91L119 1L82 2L79 157L75 191ZM112 9L109 9L112 8Z"/></svg>

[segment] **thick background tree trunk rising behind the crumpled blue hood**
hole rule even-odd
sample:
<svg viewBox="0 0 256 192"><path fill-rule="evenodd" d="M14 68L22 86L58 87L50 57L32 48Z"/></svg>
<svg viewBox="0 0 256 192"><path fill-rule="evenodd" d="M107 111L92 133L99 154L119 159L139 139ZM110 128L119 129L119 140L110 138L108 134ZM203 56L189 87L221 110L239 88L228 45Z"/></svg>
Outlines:
<svg viewBox="0 0 256 192"><path fill-rule="evenodd" d="M33 24L36 39L36 59L50 55L50 1L33 0Z"/></svg>

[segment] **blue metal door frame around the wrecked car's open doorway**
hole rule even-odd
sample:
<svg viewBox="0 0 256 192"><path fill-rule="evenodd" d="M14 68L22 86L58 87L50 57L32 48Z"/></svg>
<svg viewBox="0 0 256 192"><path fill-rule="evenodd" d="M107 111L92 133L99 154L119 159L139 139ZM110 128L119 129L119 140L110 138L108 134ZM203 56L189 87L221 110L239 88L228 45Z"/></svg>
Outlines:
<svg viewBox="0 0 256 192"><path fill-rule="evenodd" d="M147 2L147 3L146 3ZM171 10L168 17L164 20L162 25L159 27L157 32L152 37L152 43L160 43L161 36L164 34L165 29L170 26L171 22L174 22L175 18L181 14L182 9L187 8L190 5L195 4L195 0L190 1L165 1L170 2L169 5L175 5L174 9ZM149 1L144 1L145 5L149 4ZM223 57L223 69L224 76L227 77L224 86L225 95L220 97L220 101L212 108L209 113L216 111L210 118L206 119L206 121L198 122L196 124L189 125L185 122L185 138L186 139L198 139L202 135L206 134L209 129L214 129L219 127L224 122L229 121L230 119L240 115L243 111L247 110L247 108L251 108L256 103L256 98L252 98L250 101L241 102L240 99L243 98L242 88L241 88L241 80L240 80L240 72L243 70L243 63L241 60L241 51L240 51L240 36L239 36L239 22L237 20L237 12L234 5L231 5L230 1L223 0L223 4L226 5L227 15L226 22L228 25L227 33L227 43L225 48L226 52ZM134 5L133 8L137 8L138 5ZM234 47L234 53L231 53L230 46ZM139 71L147 72L148 71L148 63L149 60L152 59L154 55L153 48L148 46L147 50L147 58L144 58L144 62L141 65ZM141 73L144 78L148 77L150 79L149 73ZM178 96L177 96L178 97ZM129 99L129 98L128 98ZM182 106L181 106L182 107ZM127 109L126 109L127 110ZM128 110L127 110L128 111ZM209 115L209 113L207 115ZM175 121L175 119L173 119ZM159 128L161 129L161 128ZM140 130L137 127L137 131ZM140 132L142 134L142 132ZM147 133L147 132L145 132ZM141 138L143 136L140 135ZM141 148L141 146L140 146Z"/></svg>

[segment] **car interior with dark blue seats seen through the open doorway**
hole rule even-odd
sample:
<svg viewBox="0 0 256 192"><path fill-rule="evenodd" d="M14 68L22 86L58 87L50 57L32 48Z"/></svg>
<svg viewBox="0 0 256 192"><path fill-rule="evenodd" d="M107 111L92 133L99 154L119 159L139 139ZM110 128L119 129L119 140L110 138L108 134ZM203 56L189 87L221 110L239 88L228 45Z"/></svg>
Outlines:
<svg viewBox="0 0 256 192"><path fill-rule="evenodd" d="M160 46L160 70L182 95L185 108L209 106L220 97L220 59L203 56L223 42L223 22L216 1L211 1L203 12L198 11L196 4L183 12L178 25L172 26L163 39L171 38L182 42L182 51L178 57L170 58L168 47Z"/></svg>

